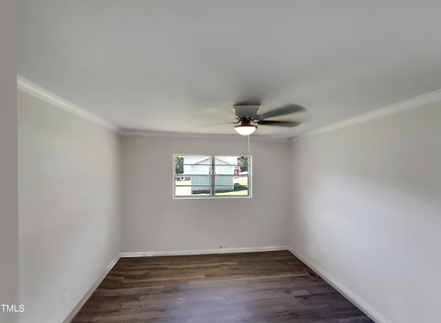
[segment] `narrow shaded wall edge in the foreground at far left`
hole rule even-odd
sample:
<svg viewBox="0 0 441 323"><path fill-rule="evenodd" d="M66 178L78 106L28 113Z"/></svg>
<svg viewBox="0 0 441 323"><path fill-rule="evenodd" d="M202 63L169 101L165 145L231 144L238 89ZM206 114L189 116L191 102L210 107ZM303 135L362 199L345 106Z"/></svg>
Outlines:
<svg viewBox="0 0 441 323"><path fill-rule="evenodd" d="M17 70L15 1L0 4L0 304L18 304ZM3 313L0 322L17 322Z"/></svg>

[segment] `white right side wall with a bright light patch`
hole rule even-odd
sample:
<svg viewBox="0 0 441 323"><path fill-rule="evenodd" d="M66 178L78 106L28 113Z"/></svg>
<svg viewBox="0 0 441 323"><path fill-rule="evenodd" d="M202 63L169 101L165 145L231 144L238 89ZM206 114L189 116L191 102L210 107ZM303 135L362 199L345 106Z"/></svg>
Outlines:
<svg viewBox="0 0 441 323"><path fill-rule="evenodd" d="M291 247L394 323L439 322L441 104L293 143Z"/></svg>

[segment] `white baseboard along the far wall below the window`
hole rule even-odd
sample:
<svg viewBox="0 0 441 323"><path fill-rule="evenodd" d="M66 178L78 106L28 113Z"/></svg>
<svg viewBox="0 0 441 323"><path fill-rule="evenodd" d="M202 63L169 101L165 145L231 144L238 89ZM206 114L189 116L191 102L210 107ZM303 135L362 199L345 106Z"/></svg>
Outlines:
<svg viewBox="0 0 441 323"><path fill-rule="evenodd" d="M243 247L243 248L218 248L181 251L139 251L134 253L120 253L120 257L151 257L163 255L209 255L213 253L255 253L260 251L288 250L289 246Z"/></svg>

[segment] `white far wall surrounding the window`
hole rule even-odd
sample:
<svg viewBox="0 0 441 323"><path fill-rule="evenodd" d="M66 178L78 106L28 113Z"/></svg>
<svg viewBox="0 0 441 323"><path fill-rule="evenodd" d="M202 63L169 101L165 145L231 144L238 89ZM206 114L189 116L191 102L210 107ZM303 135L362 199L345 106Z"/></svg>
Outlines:
<svg viewBox="0 0 441 323"><path fill-rule="evenodd" d="M289 144L252 139L252 199L172 199L173 154L247 155L246 138L121 140L123 251L287 244Z"/></svg>

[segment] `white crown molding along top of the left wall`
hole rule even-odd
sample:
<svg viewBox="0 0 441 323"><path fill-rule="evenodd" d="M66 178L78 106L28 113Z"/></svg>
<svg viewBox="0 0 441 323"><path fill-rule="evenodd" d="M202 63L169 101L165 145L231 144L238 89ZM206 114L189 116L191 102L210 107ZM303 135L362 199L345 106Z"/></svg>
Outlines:
<svg viewBox="0 0 441 323"><path fill-rule="evenodd" d="M102 126L104 128L119 132L119 128L114 126L113 124L110 124L110 122L101 119L100 117L83 108L80 108L79 106L76 106L72 102L63 99L59 95L56 95L49 90L46 90L45 88L34 84L34 82L25 79L21 75L17 75L17 89L21 92L27 93L28 95L32 95L32 97L41 99L42 101L45 101L52 106L56 106L57 108L61 108L62 110L72 113L73 115L93 122L94 124L98 124L99 126Z"/></svg>

